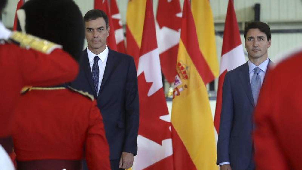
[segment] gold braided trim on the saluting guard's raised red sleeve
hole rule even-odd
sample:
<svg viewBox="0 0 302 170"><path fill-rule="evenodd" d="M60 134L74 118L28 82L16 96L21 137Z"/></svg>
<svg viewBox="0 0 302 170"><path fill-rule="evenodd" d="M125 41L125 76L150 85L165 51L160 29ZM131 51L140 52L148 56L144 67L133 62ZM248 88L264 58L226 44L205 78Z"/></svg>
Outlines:
<svg viewBox="0 0 302 170"><path fill-rule="evenodd" d="M19 43L22 48L32 48L45 54L50 54L56 48L62 48L59 44L18 31L13 31L10 39Z"/></svg>

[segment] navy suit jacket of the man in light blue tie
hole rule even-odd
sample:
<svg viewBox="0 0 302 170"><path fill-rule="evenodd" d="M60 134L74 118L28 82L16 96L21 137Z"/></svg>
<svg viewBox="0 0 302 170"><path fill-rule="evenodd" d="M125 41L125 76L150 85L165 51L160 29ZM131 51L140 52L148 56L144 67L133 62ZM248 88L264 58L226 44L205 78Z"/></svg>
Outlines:
<svg viewBox="0 0 302 170"><path fill-rule="evenodd" d="M269 64L271 61L269 60ZM265 72L267 74L268 68ZM253 111L255 103L249 79L249 64L226 72L217 144L217 165L230 162L233 170L244 170L253 159Z"/></svg>

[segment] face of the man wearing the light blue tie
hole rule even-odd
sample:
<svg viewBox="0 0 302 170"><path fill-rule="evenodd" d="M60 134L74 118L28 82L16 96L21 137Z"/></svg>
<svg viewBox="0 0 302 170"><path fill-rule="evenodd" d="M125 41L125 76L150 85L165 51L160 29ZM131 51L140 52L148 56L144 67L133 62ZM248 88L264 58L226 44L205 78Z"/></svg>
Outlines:
<svg viewBox="0 0 302 170"><path fill-rule="evenodd" d="M249 58L267 58L267 49L271 46L271 40L267 41L266 34L258 28L249 29L246 33L245 47Z"/></svg>

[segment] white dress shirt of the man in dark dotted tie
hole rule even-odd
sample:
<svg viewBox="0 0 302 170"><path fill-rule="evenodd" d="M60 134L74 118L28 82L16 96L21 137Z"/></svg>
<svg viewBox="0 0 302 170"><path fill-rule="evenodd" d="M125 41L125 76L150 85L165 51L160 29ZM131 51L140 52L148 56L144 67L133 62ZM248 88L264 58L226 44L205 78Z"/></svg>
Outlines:
<svg viewBox="0 0 302 170"><path fill-rule="evenodd" d="M105 72L105 67L106 67L106 63L107 63L108 53L109 53L108 46L106 46L105 50L103 52L101 52L100 54L93 54L87 47L87 54L88 54L88 60L89 60L91 71L92 71L92 66L93 66L93 62L94 62L94 60L93 60L94 57L98 56L100 58L100 60L98 60L98 67L100 69L100 74L99 74L99 77L98 77L98 92L100 91L101 83L102 83L102 80L103 80L103 77L104 77L104 72Z"/></svg>

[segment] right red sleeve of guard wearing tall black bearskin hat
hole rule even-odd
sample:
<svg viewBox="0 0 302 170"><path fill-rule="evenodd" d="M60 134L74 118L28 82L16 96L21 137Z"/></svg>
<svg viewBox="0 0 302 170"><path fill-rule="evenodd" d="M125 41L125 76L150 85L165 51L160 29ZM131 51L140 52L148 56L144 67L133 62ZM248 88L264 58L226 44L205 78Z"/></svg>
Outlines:
<svg viewBox="0 0 302 170"><path fill-rule="evenodd" d="M89 170L110 170L109 145L101 113L93 101L85 141L85 157Z"/></svg>

